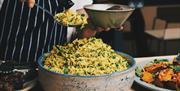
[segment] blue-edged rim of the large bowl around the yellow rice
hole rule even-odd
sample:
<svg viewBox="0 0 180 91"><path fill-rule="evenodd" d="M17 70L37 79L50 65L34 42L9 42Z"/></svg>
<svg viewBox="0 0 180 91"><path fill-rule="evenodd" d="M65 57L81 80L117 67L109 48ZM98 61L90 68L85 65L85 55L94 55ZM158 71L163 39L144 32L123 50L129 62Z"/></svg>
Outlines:
<svg viewBox="0 0 180 91"><path fill-rule="evenodd" d="M136 67L136 61L134 60L134 58L126 53L123 53L123 52L117 52L127 58L130 59L130 63L131 63L131 66L126 69L126 70L122 70L122 71L117 71L117 72L113 72L111 74L103 74L103 75L96 75L96 76L79 76L79 75L71 75L71 74L61 74L61 73L57 73L57 72L53 72L53 71L50 71L50 70L47 70L43 67L43 64L42 62L44 61L44 57L46 55L48 55L49 53L45 53L43 54L42 56L39 57L38 59L38 68L39 68L39 71L46 71L46 72L49 72L49 73L52 73L54 75L58 75L58 76L63 76L63 77L79 77L79 78L97 78L97 77L109 77L109 76L115 76L115 75L120 75L120 74L126 74L126 73L129 73L133 70L135 70L135 67Z"/></svg>

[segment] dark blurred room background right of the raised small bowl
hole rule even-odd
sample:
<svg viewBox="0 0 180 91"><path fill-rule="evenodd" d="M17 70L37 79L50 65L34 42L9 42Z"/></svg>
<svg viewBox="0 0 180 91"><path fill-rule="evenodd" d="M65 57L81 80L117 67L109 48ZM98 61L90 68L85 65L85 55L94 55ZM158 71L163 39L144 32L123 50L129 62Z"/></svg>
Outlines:
<svg viewBox="0 0 180 91"><path fill-rule="evenodd" d="M136 8L125 22L123 31L112 33L112 39L104 38L115 50L135 57L180 52L179 0L95 0L95 3L125 4Z"/></svg>

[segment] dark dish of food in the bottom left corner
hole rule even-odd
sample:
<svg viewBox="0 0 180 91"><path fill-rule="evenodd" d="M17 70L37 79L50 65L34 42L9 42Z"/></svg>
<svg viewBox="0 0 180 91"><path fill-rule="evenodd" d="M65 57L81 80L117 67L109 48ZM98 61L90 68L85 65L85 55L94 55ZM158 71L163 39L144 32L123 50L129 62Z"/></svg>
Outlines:
<svg viewBox="0 0 180 91"><path fill-rule="evenodd" d="M37 71L31 64L19 64L15 61L0 60L0 91L23 91L30 89L37 77ZM32 83L32 84L31 84Z"/></svg>

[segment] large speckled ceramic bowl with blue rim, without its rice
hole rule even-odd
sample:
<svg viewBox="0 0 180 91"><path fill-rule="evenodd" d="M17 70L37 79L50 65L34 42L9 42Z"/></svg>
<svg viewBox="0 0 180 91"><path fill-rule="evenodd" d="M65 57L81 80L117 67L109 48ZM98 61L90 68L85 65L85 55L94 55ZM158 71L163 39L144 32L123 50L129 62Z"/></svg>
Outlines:
<svg viewBox="0 0 180 91"><path fill-rule="evenodd" d="M49 71L43 67L43 55L38 60L40 84L45 91L127 91L134 81L136 62L131 56L120 54L130 59L131 67L100 76L77 76Z"/></svg>

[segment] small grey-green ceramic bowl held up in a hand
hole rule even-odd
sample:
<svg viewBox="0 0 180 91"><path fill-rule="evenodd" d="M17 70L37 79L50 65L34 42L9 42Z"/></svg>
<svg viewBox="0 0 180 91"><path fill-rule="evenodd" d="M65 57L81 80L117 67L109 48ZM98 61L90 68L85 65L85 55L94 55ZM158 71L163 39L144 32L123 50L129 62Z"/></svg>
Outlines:
<svg viewBox="0 0 180 91"><path fill-rule="evenodd" d="M107 10L113 6L121 7L121 9ZM134 8L119 4L92 4L84 6L84 9L96 26L104 28L119 27L134 11Z"/></svg>

